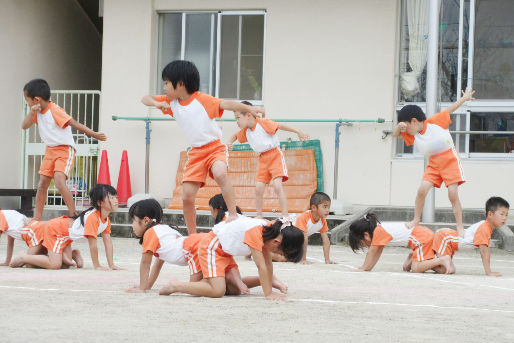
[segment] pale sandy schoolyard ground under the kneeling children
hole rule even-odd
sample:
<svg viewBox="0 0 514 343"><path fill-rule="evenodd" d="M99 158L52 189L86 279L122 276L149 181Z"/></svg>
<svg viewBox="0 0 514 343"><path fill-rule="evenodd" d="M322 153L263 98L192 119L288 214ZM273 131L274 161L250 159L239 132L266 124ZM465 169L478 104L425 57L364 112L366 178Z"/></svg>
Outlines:
<svg viewBox="0 0 514 343"><path fill-rule="evenodd" d="M83 269L0 267L0 342L512 342L514 254L492 253L484 275L478 251L459 252L457 275L402 272L409 252L386 248L375 270L351 272L363 254L332 246L339 265L325 265L322 248L310 246L315 264L275 263L289 286L286 302L250 296L207 299L187 295L128 294L139 281L136 239L114 238L115 262L126 270L92 270L87 243L74 244ZM0 241L3 261L6 239ZM15 253L23 248L16 242ZM99 240L101 262L106 264ZM252 261L238 259L243 275ZM186 280L187 267L165 264L157 289L171 277Z"/></svg>

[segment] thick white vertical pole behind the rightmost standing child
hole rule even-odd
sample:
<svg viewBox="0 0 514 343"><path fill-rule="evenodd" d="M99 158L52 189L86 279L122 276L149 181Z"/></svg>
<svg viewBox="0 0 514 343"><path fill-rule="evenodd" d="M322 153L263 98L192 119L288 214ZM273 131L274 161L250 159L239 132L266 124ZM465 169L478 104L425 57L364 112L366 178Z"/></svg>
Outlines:
<svg viewBox="0 0 514 343"><path fill-rule="evenodd" d="M427 47L427 116L437 113L437 86L438 86L438 43L439 43L439 9L441 0L430 0L428 14L428 47ZM428 158L425 157L425 169L428 165ZM433 223L435 221L435 192L432 188L426 198L423 207L423 222Z"/></svg>

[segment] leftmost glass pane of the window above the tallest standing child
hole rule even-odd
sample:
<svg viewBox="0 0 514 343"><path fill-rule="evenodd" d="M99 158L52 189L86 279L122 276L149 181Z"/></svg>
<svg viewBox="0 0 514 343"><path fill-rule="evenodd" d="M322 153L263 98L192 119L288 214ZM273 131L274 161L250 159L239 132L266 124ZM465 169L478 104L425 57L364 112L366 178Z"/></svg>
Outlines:
<svg viewBox="0 0 514 343"><path fill-rule="evenodd" d="M165 13L159 16L159 56L157 63L157 93L163 92L161 73L164 67L180 59L182 45L182 14Z"/></svg>

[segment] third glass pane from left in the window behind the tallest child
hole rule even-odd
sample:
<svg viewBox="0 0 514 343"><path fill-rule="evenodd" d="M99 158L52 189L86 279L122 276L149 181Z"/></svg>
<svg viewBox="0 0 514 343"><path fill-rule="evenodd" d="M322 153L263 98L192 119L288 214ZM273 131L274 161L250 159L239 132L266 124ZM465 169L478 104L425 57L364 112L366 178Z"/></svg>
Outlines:
<svg viewBox="0 0 514 343"><path fill-rule="evenodd" d="M223 16L221 20L220 50L219 97L237 99L239 16Z"/></svg>

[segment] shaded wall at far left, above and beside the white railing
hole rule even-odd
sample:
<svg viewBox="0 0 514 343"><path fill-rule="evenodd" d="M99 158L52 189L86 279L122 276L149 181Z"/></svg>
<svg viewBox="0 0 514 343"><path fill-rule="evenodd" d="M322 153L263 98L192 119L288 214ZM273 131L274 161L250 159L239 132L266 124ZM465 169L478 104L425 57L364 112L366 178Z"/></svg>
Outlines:
<svg viewBox="0 0 514 343"><path fill-rule="evenodd" d="M41 77L52 89L100 89L101 37L76 1L0 1L0 188L21 186L23 86ZM16 198L0 206L17 207Z"/></svg>

